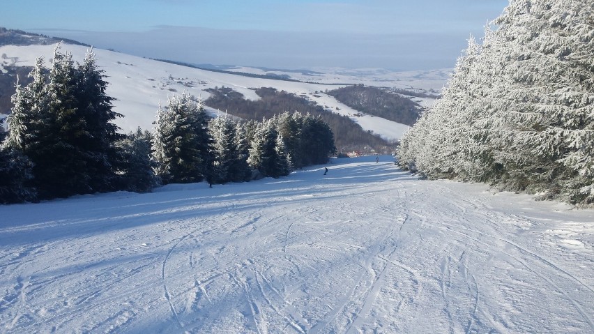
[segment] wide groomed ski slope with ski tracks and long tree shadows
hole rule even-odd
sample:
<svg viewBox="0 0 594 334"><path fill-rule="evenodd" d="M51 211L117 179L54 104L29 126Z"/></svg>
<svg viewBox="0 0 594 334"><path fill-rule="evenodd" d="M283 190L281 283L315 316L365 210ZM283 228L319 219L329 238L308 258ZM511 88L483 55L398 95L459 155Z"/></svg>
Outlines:
<svg viewBox="0 0 594 334"><path fill-rule="evenodd" d="M594 211L390 157L0 206L2 333L594 333Z"/></svg>

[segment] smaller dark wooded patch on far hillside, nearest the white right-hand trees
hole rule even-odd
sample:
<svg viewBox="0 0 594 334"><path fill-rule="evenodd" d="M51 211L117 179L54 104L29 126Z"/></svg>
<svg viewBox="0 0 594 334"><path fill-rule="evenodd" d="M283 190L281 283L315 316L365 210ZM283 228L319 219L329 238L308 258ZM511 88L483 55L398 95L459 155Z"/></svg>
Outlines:
<svg viewBox="0 0 594 334"><path fill-rule="evenodd" d="M413 126L421 107L410 98L377 87L357 84L328 91L328 95L365 114Z"/></svg>

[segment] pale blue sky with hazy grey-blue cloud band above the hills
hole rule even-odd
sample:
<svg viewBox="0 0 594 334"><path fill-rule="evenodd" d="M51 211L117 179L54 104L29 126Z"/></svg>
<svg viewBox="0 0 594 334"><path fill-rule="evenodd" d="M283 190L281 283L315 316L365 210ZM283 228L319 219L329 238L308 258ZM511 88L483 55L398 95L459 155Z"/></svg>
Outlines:
<svg viewBox="0 0 594 334"><path fill-rule="evenodd" d="M190 63L454 66L507 0L19 0L0 26Z"/></svg>

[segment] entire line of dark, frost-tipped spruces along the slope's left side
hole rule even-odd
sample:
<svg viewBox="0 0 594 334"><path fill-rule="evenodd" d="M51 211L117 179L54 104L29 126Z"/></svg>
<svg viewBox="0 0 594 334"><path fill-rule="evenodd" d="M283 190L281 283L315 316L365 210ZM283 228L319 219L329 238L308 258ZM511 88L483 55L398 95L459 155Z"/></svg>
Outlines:
<svg viewBox="0 0 594 334"><path fill-rule="evenodd" d="M17 84L0 132L0 203L77 194L150 191L160 183L249 181L328 162L333 132L310 114L238 123L210 119L183 93L159 107L155 131L119 133L113 98L89 52L83 63L56 47L49 70L38 59L31 82ZM0 127L1 128L1 127Z"/></svg>

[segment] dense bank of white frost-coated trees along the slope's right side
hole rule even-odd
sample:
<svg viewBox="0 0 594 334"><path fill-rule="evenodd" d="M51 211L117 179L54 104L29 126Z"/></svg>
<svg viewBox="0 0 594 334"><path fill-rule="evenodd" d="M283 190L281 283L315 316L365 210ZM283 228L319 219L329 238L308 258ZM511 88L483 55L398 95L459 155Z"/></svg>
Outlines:
<svg viewBox="0 0 594 334"><path fill-rule="evenodd" d="M594 204L594 3L510 1L397 155L432 179Z"/></svg>

